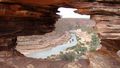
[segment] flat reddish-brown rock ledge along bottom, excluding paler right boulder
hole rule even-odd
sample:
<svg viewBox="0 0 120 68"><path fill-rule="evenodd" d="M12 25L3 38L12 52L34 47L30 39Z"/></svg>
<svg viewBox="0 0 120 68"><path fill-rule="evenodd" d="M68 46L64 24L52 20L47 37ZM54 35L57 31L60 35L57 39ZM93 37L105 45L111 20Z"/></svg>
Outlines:
<svg viewBox="0 0 120 68"><path fill-rule="evenodd" d="M2 58L2 61L0 61L0 66L2 68L88 68L87 66L89 66L89 61L87 59L81 61L48 61L25 57L15 57Z"/></svg>

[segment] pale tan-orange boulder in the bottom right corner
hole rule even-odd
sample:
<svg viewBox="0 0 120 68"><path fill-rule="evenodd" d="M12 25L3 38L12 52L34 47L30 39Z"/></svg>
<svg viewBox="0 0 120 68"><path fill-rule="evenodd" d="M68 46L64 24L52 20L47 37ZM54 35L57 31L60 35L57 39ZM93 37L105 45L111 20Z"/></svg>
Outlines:
<svg viewBox="0 0 120 68"><path fill-rule="evenodd" d="M114 53L104 50L89 53L88 55L90 60L91 68L119 68L120 67L120 58L117 57Z"/></svg>

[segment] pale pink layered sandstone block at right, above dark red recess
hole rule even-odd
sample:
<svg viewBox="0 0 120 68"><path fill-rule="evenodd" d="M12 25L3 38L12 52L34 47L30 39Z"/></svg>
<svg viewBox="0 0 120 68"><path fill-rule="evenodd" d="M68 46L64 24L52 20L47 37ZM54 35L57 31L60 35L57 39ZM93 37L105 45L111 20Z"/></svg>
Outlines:
<svg viewBox="0 0 120 68"><path fill-rule="evenodd" d="M101 39L120 39L119 16L94 15L96 29Z"/></svg>

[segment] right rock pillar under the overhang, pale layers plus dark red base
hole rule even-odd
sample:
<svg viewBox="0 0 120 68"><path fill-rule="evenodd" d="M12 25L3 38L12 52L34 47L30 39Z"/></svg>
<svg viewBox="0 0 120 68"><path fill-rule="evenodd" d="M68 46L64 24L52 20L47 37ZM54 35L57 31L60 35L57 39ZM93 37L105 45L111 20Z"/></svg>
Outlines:
<svg viewBox="0 0 120 68"><path fill-rule="evenodd" d="M101 44L110 51L120 50L120 16L119 15L93 15L96 29L101 38Z"/></svg>

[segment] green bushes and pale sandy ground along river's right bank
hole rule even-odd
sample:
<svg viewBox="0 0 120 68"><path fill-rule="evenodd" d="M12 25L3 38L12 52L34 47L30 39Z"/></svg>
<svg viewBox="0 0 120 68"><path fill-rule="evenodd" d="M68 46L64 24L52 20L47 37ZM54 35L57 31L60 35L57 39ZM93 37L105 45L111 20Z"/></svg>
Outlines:
<svg viewBox="0 0 120 68"><path fill-rule="evenodd" d="M81 59L83 55L87 51L95 51L96 48L100 45L100 40L98 38L98 35L95 33L93 28L85 27L85 26L79 26L82 31L87 31L88 34L91 35L91 41L90 42L81 42L81 38L76 35L77 38L77 44L76 46L69 47L66 49L66 51L61 52L58 56L60 60L64 61L75 61ZM87 46L86 46L87 45Z"/></svg>

